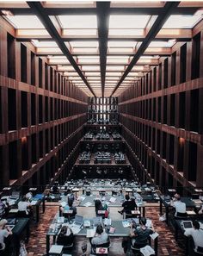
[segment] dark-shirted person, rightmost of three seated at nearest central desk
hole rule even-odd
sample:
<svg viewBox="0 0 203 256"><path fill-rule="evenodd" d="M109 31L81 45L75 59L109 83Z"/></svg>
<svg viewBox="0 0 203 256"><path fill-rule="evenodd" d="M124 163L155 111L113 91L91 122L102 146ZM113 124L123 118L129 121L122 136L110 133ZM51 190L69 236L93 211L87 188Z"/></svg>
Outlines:
<svg viewBox="0 0 203 256"><path fill-rule="evenodd" d="M154 228L147 228L146 227L146 219L142 217L140 219L140 226L138 228L133 228L133 224L131 224L131 242L133 247L145 247L148 244L148 240L150 238L150 234L154 233Z"/></svg>

